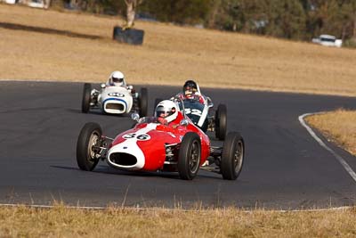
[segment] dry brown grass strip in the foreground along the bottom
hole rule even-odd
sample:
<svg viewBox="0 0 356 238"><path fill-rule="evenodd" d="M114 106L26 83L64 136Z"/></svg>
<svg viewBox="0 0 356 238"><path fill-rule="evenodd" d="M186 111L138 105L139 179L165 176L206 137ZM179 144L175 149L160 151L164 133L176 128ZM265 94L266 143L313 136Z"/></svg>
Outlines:
<svg viewBox="0 0 356 238"><path fill-rule="evenodd" d="M0 209L1 237L355 237L355 209Z"/></svg>

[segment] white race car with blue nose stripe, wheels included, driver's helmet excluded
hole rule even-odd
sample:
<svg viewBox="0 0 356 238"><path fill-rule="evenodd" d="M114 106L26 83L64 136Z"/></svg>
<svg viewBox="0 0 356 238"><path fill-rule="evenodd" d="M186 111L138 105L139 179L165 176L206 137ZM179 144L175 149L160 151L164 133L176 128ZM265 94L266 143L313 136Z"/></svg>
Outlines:
<svg viewBox="0 0 356 238"><path fill-rule="evenodd" d="M141 117L147 116L148 91L142 87L136 93L134 86L107 86L101 84L101 90L92 89L85 83L83 90L82 111L99 108L102 113L124 114L137 112Z"/></svg>

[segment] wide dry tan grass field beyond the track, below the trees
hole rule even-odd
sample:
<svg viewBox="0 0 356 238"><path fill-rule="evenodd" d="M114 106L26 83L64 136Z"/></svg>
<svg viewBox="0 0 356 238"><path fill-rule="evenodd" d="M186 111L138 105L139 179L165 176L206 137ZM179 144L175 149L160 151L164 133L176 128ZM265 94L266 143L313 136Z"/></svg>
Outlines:
<svg viewBox="0 0 356 238"><path fill-rule="evenodd" d="M0 22L100 39L0 27L0 78L105 80L112 70L132 84L182 85L356 95L356 51L216 30L137 21L142 46L111 40L122 20L0 4Z"/></svg>

